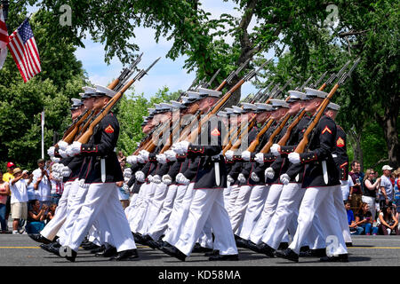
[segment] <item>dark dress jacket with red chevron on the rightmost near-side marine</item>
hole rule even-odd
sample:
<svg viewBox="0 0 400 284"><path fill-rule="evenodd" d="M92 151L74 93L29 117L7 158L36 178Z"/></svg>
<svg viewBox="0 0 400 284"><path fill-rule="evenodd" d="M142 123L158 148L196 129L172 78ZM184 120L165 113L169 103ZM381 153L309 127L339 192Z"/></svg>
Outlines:
<svg viewBox="0 0 400 284"><path fill-rule="evenodd" d="M308 142L309 151L300 154L300 163L306 164L302 187L340 185L339 170L333 161L335 149L336 123L324 115L316 125L315 135ZM324 183L322 162L326 161L328 183Z"/></svg>

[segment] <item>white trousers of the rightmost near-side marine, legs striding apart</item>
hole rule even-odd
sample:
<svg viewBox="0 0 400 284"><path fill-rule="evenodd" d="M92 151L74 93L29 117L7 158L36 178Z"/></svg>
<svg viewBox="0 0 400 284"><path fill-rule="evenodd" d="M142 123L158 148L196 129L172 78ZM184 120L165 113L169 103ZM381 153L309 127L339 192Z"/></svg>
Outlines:
<svg viewBox="0 0 400 284"><path fill-rule="evenodd" d="M324 240L329 243L326 248L326 254L339 255L348 253L333 200L333 193L337 189L335 187L338 186L340 185L306 189L299 209L299 225L289 246L295 253L300 253L300 247L311 228L316 214L323 228Z"/></svg>

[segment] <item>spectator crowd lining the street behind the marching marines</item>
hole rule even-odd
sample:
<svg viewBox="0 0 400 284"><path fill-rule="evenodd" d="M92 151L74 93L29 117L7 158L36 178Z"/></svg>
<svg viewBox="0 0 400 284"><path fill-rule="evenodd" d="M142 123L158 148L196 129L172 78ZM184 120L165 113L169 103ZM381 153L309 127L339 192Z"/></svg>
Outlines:
<svg viewBox="0 0 400 284"><path fill-rule="evenodd" d="M118 153L121 169L126 158ZM39 233L55 214L63 192L63 183L52 177L52 162L37 161L37 169L21 170L12 162L7 171L0 170L0 233ZM348 212L348 227L352 234L399 234L400 168L388 165L377 170L361 171L353 161L347 186L342 186L344 206ZM126 180L117 184L123 208L129 206L131 193ZM12 218L12 231L8 219Z"/></svg>

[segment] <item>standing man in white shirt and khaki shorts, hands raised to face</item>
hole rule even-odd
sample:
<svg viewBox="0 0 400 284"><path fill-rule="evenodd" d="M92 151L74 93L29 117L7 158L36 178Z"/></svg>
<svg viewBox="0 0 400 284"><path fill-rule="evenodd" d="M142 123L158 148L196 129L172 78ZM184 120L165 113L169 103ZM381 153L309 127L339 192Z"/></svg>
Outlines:
<svg viewBox="0 0 400 284"><path fill-rule="evenodd" d="M14 178L10 182L13 234L21 233L19 231L20 219L26 220L28 217L28 192L25 182L28 177L27 172L15 168L13 170Z"/></svg>

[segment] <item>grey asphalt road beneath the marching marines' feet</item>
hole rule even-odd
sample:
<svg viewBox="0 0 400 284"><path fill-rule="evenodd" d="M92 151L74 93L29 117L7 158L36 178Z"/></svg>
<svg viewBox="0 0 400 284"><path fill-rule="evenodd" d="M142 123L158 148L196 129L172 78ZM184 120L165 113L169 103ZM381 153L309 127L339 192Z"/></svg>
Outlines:
<svg viewBox="0 0 400 284"><path fill-rule="evenodd" d="M169 266L169 267L265 267L265 266L400 266L400 236L353 236L348 248L349 263L320 263L318 258L304 257L293 264L281 258L267 258L251 250L239 248L239 261L210 262L194 253L181 262L162 251L138 245L140 258L129 262L111 262L80 249L75 263L39 248L28 235L0 234L0 267L13 266Z"/></svg>

